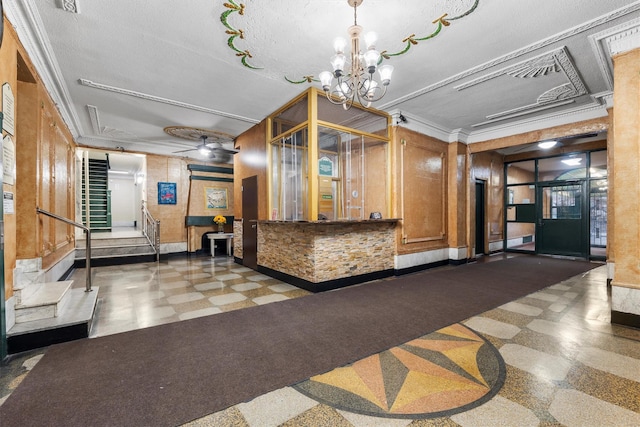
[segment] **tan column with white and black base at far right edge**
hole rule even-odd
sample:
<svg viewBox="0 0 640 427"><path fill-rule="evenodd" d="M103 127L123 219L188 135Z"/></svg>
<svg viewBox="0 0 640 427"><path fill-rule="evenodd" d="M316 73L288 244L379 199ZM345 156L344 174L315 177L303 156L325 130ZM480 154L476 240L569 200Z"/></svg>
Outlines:
<svg viewBox="0 0 640 427"><path fill-rule="evenodd" d="M640 48L613 57L611 321L640 327Z"/></svg>

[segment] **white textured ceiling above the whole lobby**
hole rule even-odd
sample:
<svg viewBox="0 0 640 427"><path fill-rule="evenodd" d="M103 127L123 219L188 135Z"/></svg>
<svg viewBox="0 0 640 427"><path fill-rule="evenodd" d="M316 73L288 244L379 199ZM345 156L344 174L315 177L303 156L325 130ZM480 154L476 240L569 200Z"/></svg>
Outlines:
<svg viewBox="0 0 640 427"><path fill-rule="evenodd" d="M287 79L329 68L333 39L353 23L347 0L4 7L79 144L158 154L197 145L168 126L237 136L260 122L309 85ZM474 143L606 115L611 46L637 36L640 1L364 0L358 24L378 33L378 50L409 47L386 61L394 76L374 106L402 113L401 126Z"/></svg>

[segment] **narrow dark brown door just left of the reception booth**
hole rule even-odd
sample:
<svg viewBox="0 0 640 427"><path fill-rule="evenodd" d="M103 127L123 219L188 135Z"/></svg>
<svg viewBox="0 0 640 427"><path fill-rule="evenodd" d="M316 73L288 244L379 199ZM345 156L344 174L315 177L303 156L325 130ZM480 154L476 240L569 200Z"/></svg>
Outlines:
<svg viewBox="0 0 640 427"><path fill-rule="evenodd" d="M258 269L258 177L242 180L242 265Z"/></svg>

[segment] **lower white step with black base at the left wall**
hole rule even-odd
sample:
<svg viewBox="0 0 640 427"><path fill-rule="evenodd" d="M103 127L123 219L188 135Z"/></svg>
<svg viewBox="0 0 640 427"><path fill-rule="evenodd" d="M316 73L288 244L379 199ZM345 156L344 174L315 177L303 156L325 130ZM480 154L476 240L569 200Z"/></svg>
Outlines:
<svg viewBox="0 0 640 427"><path fill-rule="evenodd" d="M7 331L10 354L46 347L66 341L88 338L98 302L99 287L92 292L71 288L64 296L57 316L16 323Z"/></svg>

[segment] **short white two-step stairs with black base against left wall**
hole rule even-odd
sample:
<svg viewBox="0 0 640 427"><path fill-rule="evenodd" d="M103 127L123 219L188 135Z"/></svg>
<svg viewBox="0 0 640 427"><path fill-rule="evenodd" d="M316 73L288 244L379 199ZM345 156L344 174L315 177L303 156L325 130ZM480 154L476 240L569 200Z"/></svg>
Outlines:
<svg viewBox="0 0 640 427"><path fill-rule="evenodd" d="M98 288L85 292L72 280L45 282L44 271L16 269L15 325L7 331L10 354L87 338L98 301Z"/></svg>

